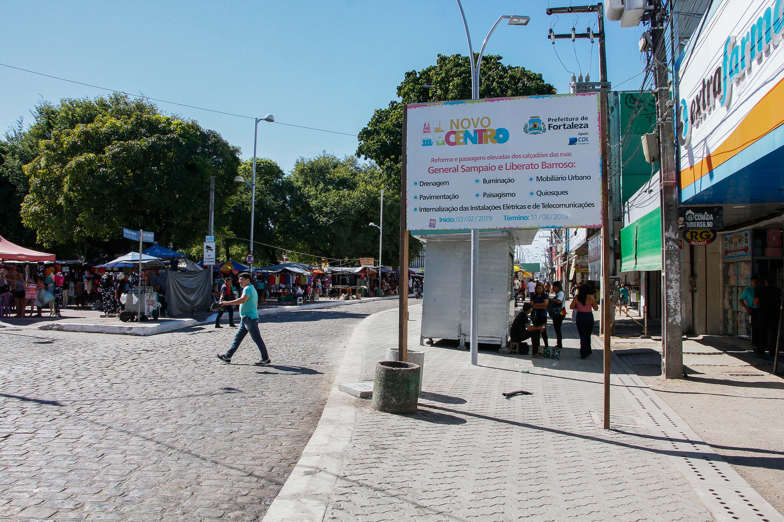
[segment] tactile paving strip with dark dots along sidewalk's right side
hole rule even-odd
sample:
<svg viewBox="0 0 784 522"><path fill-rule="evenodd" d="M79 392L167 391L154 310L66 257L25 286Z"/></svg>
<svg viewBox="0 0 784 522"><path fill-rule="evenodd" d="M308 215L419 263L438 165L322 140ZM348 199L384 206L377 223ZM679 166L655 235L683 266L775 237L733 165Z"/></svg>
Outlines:
<svg viewBox="0 0 784 522"><path fill-rule="evenodd" d="M784 522L784 517L620 358L613 355L612 365L612 384L622 387L651 436L659 439L662 451L670 455L716 520Z"/></svg>

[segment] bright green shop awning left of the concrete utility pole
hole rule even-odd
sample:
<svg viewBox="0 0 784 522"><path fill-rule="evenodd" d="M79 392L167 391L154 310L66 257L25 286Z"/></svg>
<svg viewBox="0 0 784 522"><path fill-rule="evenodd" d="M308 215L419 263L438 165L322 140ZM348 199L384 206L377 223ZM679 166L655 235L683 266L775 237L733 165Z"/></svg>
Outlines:
<svg viewBox="0 0 784 522"><path fill-rule="evenodd" d="M662 269L662 213L644 214L621 229L621 272Z"/></svg>

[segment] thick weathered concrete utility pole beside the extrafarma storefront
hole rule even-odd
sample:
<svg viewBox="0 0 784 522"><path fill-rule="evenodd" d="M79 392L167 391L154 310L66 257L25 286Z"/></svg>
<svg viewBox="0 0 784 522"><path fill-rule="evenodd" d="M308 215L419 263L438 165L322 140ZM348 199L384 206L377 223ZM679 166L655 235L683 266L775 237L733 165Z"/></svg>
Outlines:
<svg viewBox="0 0 784 522"><path fill-rule="evenodd" d="M656 82L662 205L662 374L665 379L684 375L683 329L681 328L681 250L678 231L678 187L673 136L673 102L667 71L666 10L655 0L651 19L651 39Z"/></svg>

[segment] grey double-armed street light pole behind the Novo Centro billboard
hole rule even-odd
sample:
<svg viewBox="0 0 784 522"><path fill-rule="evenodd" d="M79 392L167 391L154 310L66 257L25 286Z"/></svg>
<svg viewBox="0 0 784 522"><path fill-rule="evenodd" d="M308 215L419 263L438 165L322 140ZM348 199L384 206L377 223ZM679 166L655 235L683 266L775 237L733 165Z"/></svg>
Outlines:
<svg viewBox="0 0 784 522"><path fill-rule="evenodd" d="M479 72L482 67L482 56L485 54L485 46L488 40L495 31L495 27L501 20L509 20L509 25L527 25L531 20L528 16L515 16L503 15L499 16L498 20L490 28L490 32L485 37L482 47L479 51L476 67L474 67L474 46L471 44L471 34L468 31L468 22L466 22L466 13L463 12L463 4L457 0L457 6L460 9L460 16L463 18L463 27L466 28L466 39L468 40L469 62L471 66L471 99L479 99ZM476 366L479 364L479 230L471 229L471 319L470 319L470 347L471 347L471 364Z"/></svg>

